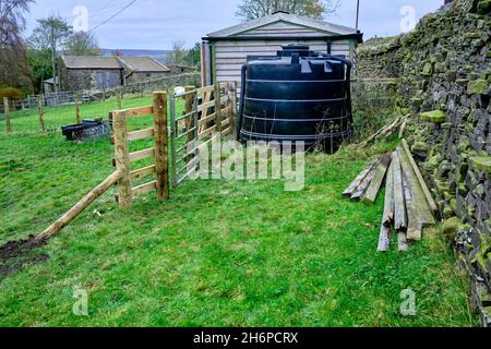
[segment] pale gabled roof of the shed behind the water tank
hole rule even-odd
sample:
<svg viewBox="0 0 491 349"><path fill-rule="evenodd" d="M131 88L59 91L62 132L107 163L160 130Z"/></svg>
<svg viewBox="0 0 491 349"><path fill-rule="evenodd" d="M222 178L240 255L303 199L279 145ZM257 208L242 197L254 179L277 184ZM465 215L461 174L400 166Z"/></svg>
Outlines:
<svg viewBox="0 0 491 349"><path fill-rule="evenodd" d="M208 38L225 38L239 34L246 34L249 31L278 22L286 22L318 29L319 32L325 33L326 35L359 35L359 32L351 27L333 24L325 21L318 21L286 12L277 12L258 20L248 21L218 32L209 33Z"/></svg>

